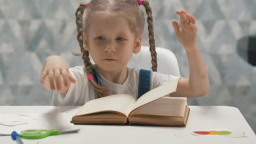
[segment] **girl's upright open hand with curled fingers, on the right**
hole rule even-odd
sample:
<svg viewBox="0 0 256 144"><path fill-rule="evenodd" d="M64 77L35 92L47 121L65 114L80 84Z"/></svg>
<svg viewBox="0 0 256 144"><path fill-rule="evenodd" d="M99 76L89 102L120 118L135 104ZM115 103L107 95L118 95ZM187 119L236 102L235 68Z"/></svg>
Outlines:
<svg viewBox="0 0 256 144"><path fill-rule="evenodd" d="M195 47L197 42L196 18L186 10L176 11L181 18L181 27L177 20L172 21L177 39L185 49Z"/></svg>

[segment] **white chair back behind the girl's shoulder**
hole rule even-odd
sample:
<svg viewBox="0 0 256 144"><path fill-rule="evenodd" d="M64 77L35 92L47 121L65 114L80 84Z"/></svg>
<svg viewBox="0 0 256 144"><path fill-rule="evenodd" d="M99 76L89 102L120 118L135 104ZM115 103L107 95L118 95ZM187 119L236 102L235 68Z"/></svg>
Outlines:
<svg viewBox="0 0 256 144"><path fill-rule="evenodd" d="M181 76L177 58L173 52L168 49L156 47L157 60L158 60L158 72ZM151 53L149 46L141 46L141 51L138 54L133 54L131 60L128 62L128 67L136 69L151 70Z"/></svg>

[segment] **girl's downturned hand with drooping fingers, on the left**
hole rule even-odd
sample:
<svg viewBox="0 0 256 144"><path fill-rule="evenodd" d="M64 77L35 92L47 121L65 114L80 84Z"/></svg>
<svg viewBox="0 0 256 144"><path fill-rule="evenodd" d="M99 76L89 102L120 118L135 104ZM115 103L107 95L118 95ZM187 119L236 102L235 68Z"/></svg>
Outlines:
<svg viewBox="0 0 256 144"><path fill-rule="evenodd" d="M48 79L46 79L47 76ZM49 56L43 65L40 80L41 85L52 91L65 92L70 82L75 83L76 80L72 77L62 57Z"/></svg>

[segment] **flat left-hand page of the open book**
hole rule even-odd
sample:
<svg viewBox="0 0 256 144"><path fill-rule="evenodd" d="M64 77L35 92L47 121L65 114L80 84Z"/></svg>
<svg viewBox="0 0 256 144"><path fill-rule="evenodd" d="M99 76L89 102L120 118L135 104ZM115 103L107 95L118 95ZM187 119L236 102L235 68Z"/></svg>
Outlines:
<svg viewBox="0 0 256 144"><path fill-rule="evenodd" d="M135 98L130 95L109 95L86 102L75 115L89 115L103 111L118 111L128 117L130 110L128 111L127 108L131 109L131 105L134 105L135 102Z"/></svg>

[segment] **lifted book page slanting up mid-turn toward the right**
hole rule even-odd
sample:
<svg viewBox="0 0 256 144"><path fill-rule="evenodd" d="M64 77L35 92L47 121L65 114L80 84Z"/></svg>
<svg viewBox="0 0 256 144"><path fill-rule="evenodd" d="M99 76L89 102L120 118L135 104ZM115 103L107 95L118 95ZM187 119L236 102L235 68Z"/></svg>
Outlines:
<svg viewBox="0 0 256 144"><path fill-rule="evenodd" d="M181 78L174 79L171 82L168 82L164 85L154 88L151 91L141 95L141 97L136 101L133 110L141 107L151 101L157 100L158 98L164 97L172 92L176 92L177 84Z"/></svg>

